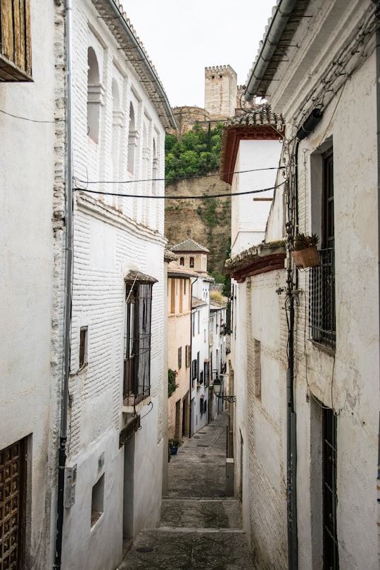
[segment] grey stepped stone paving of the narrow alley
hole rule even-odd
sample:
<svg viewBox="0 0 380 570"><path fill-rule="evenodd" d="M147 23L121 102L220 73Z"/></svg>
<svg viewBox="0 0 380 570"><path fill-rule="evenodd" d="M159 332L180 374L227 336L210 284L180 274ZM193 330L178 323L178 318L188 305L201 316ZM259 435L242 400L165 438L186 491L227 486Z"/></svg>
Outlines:
<svg viewBox="0 0 380 570"><path fill-rule="evenodd" d="M240 503L225 497L227 412L185 440L169 463L159 528L142 531L119 570L254 570Z"/></svg>

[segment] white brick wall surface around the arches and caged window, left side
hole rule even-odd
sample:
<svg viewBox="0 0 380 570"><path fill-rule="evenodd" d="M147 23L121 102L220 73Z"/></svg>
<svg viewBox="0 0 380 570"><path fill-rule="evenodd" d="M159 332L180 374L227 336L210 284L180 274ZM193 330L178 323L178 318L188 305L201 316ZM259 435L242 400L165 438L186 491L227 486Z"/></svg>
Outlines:
<svg viewBox="0 0 380 570"><path fill-rule="evenodd" d="M98 18L91 3L82 2L74 6L73 22L76 187L163 194L162 182L103 182L151 179L153 164L162 178L165 132L107 21ZM101 84L97 143L87 134L89 46L96 53ZM131 103L137 132L133 172L128 170ZM87 185L86 180L96 184ZM68 465L77 464L77 485L75 505L65 509L64 569L113 570L122 557L123 520L127 538L132 539L141 528L154 528L160 521L163 460L167 461L163 208L161 200L75 191ZM119 448L127 421L122 412L123 339L125 277L131 270L157 280L151 315L151 403L146 400L138 406L141 429ZM88 327L88 363L79 370L81 327ZM102 474L103 514L91 526L92 488Z"/></svg>

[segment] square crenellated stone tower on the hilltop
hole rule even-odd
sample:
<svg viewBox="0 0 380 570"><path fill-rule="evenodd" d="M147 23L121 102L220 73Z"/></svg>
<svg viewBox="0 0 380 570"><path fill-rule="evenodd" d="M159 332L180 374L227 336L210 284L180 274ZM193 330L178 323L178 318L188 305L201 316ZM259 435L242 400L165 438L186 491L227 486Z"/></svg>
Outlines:
<svg viewBox="0 0 380 570"><path fill-rule="evenodd" d="M234 117L237 75L231 65L205 68L205 109L212 119Z"/></svg>

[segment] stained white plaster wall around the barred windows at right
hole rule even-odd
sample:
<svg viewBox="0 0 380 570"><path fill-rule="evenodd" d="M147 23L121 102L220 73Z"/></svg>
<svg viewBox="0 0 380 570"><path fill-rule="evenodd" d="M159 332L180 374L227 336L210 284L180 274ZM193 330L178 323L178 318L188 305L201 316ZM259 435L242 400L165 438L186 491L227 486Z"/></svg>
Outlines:
<svg viewBox="0 0 380 570"><path fill-rule="evenodd" d="M375 61L371 56L347 82L325 112L301 151L310 158L324 137L334 148L334 208L336 235L336 351L327 354L298 336L298 410L313 420L305 393L311 391L338 414L338 540L340 564L378 566L376 526L376 465L379 429L379 284L376 179ZM334 116L333 116L334 113ZM360 114L360 123L355 120ZM358 144L360 141L360 144ZM300 172L300 178L303 172ZM310 208L310 182L305 187ZM301 194L302 195L302 194ZM305 222L308 224L308 221ZM315 230L314 230L315 231ZM372 267L369 271L368 268ZM308 291L308 275L300 279ZM304 320L304 304L299 322ZM307 366L303 358L308 355ZM306 376L307 374L307 376ZM310 428L309 428L310 429ZM310 520L309 429L299 433L300 559L312 553ZM305 474L305 478L303 476ZM305 508L304 508L305 506ZM320 536L319 536L320 540Z"/></svg>

